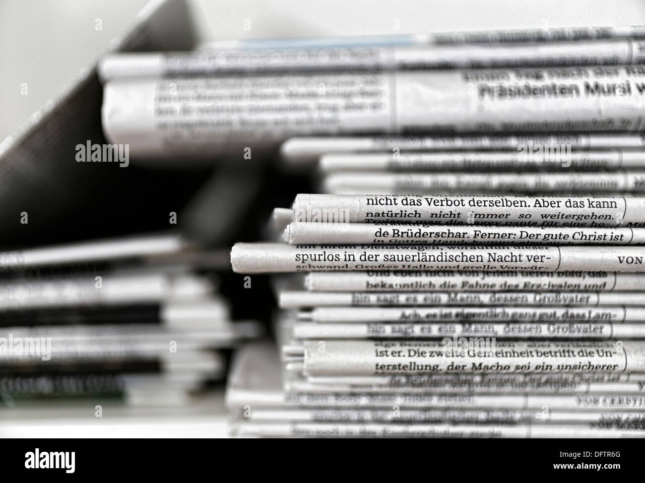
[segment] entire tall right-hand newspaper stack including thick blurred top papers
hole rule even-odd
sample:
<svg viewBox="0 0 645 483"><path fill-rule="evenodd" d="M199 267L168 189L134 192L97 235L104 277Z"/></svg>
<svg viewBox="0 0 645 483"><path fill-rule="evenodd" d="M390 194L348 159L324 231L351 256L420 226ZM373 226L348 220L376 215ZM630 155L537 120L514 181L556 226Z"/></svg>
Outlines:
<svg viewBox="0 0 645 483"><path fill-rule="evenodd" d="M236 355L235 432L645 436L644 34L104 59L106 137L139 163L279 153L321 175L274 190L295 197L280 241L233 246L237 273L301 272L275 281L278 347Z"/></svg>

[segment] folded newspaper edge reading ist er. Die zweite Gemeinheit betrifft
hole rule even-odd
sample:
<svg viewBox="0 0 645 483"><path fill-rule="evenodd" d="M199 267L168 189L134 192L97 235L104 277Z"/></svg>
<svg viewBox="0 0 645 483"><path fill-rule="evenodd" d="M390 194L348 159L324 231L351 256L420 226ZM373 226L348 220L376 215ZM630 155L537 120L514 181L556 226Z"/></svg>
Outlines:
<svg viewBox="0 0 645 483"><path fill-rule="evenodd" d="M321 344L323 342L323 344ZM303 340L304 375L645 372L645 342L497 342L473 350L438 341Z"/></svg>

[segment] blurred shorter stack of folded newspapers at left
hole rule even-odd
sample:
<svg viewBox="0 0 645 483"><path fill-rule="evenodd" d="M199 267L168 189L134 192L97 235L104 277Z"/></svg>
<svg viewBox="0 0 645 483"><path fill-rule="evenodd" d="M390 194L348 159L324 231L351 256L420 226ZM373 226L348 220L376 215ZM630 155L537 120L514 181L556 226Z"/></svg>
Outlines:
<svg viewBox="0 0 645 483"><path fill-rule="evenodd" d="M232 322L217 295L223 254L174 233L1 253L0 431L203 411L225 375L223 350L260 333Z"/></svg>

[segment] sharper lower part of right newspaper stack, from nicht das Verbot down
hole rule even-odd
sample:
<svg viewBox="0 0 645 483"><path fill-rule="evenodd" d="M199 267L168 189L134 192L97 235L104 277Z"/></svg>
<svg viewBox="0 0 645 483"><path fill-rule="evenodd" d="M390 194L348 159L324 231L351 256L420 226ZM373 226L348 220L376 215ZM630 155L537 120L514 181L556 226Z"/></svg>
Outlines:
<svg viewBox="0 0 645 483"><path fill-rule="evenodd" d="M645 436L645 199L321 194L291 214L286 242L232 250L240 273L306 272L277 284L282 364L237 358L239 434Z"/></svg>

